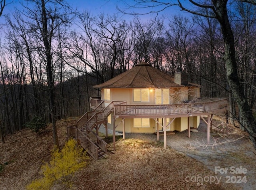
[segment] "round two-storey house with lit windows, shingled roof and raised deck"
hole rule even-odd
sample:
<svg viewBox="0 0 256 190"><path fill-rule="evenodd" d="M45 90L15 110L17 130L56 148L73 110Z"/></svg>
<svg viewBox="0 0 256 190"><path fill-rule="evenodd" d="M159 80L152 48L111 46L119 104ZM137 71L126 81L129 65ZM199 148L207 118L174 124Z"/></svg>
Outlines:
<svg viewBox="0 0 256 190"><path fill-rule="evenodd" d="M76 128L96 129L97 135L103 124L106 136L109 128L114 134L122 132L123 138L125 133L156 133L157 140L163 131L164 148L167 131L188 130L190 137L190 128L198 128L200 118L208 126L209 143L212 116L226 106L225 99L200 98L200 85L189 83L182 72L172 77L146 62L93 88L100 89L101 96L91 98L93 111L78 120ZM115 150L115 135L113 142Z"/></svg>

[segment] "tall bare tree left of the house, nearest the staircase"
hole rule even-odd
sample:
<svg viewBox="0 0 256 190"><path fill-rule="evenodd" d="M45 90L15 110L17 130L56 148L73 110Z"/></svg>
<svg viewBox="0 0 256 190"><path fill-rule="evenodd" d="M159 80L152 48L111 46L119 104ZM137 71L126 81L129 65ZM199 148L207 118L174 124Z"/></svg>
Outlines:
<svg viewBox="0 0 256 190"><path fill-rule="evenodd" d="M59 148L56 130L56 107L54 102L54 63L52 45L58 34L58 28L68 26L72 21L72 9L62 0L27 0L24 4L26 16L30 21L31 32L38 38L38 50L46 66L49 114L52 122L54 144ZM34 8L31 7L31 3Z"/></svg>

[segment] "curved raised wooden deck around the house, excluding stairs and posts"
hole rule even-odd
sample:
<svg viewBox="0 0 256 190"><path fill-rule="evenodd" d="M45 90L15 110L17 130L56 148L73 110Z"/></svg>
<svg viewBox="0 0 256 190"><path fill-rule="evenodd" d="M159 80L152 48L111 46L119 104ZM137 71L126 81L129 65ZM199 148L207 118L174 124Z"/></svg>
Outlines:
<svg viewBox="0 0 256 190"><path fill-rule="evenodd" d="M93 102L94 101L94 102ZM101 100L103 101L103 100ZM96 106L100 100L92 100ZM166 105L128 105L127 102L114 104L115 118L174 118L188 116L202 116L213 114L226 109L227 101L224 98L212 98L208 100L197 99L182 102L181 104Z"/></svg>

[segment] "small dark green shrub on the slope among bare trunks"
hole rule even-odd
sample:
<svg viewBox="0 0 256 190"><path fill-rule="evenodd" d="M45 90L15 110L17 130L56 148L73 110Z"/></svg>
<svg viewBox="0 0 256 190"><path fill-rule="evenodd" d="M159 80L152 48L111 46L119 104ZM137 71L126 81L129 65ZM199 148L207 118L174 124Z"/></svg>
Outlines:
<svg viewBox="0 0 256 190"><path fill-rule="evenodd" d="M47 126L46 120L42 116L34 116L31 121L26 123L26 127L34 132L42 132Z"/></svg>

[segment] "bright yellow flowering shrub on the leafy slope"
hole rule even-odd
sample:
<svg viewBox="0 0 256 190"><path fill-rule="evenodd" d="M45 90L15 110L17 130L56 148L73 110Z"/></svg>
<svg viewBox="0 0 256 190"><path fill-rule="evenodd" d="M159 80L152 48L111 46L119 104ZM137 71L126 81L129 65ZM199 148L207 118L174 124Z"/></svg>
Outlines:
<svg viewBox="0 0 256 190"><path fill-rule="evenodd" d="M72 176L88 164L87 160L88 156L83 148L77 147L76 140L70 139L61 151L57 148L52 150L50 163L45 163L41 167L44 177L34 180L27 189L48 190L55 185L70 188Z"/></svg>

